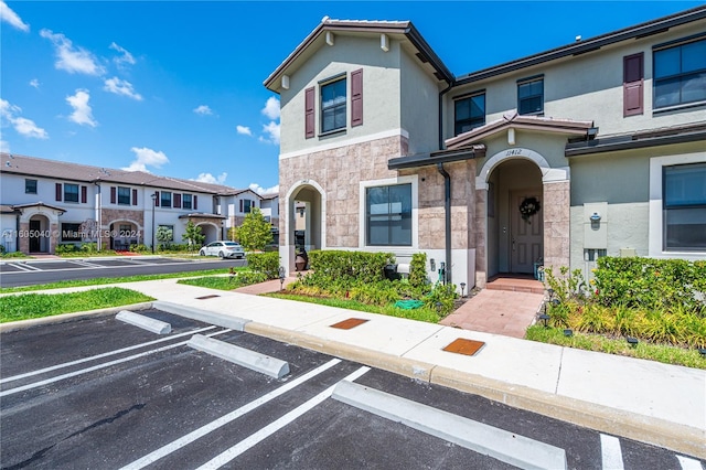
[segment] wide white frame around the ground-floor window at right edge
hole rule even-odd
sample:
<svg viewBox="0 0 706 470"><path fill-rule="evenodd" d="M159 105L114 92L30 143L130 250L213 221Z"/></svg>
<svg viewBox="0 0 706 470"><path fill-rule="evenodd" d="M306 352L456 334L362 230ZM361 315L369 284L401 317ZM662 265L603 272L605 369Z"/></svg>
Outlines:
<svg viewBox="0 0 706 470"><path fill-rule="evenodd" d="M663 220L663 175L664 167L675 164L706 163L706 152L684 153L650 159L650 224L649 256L653 258L706 259L706 252L666 252L664 250Z"/></svg>

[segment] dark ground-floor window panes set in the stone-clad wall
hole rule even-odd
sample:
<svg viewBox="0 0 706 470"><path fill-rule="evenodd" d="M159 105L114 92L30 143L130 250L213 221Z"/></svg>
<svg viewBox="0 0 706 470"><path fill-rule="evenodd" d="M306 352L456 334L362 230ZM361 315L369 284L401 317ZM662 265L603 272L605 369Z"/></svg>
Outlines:
<svg viewBox="0 0 706 470"><path fill-rule="evenodd" d="M365 191L366 244L411 246L411 184Z"/></svg>

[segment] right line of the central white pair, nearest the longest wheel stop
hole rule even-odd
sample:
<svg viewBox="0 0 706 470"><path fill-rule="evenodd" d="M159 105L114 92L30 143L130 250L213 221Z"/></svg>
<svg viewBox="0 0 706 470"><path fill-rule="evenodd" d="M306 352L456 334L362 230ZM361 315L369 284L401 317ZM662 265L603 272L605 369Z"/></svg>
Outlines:
<svg viewBox="0 0 706 470"><path fill-rule="evenodd" d="M370 370L371 370L370 367L363 366L357 371L355 371L354 373L350 374L347 377L343 378L343 381L352 382L357 377L360 377L361 375L365 374ZM329 398L333 393L334 388L335 388L335 385L330 386L325 391L321 392L319 395L314 396L313 398L309 399L308 402L303 403L302 405L287 413L281 418L270 423L269 425L265 426L263 429L258 430L257 432L246 437L245 439L243 439L242 441L239 441L238 444L236 444L225 452L222 452L218 456L214 457L213 459L208 460L206 463L199 467L199 470L217 469L228 463L231 460L235 459L240 453L256 446L260 441L274 435L279 429L284 428L285 426L287 426L288 424L290 424L291 421L293 421L304 413L311 410L313 407L315 407L317 405L319 405L320 403Z"/></svg>

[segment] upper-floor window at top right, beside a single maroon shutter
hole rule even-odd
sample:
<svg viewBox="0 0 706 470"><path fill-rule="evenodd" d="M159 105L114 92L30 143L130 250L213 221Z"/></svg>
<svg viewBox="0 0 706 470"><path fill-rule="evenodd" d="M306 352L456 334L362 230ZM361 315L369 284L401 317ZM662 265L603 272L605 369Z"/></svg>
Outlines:
<svg viewBox="0 0 706 470"><path fill-rule="evenodd" d="M654 51L654 108L706 100L706 40Z"/></svg>

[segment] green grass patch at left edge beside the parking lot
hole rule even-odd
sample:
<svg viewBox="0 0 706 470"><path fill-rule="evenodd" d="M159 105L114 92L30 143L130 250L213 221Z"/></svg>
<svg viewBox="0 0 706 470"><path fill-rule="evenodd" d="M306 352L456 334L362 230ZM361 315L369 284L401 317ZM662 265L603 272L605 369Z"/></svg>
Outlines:
<svg viewBox="0 0 706 470"><path fill-rule="evenodd" d="M121 287L83 292L22 293L0 297L0 323L149 302L153 298Z"/></svg>

